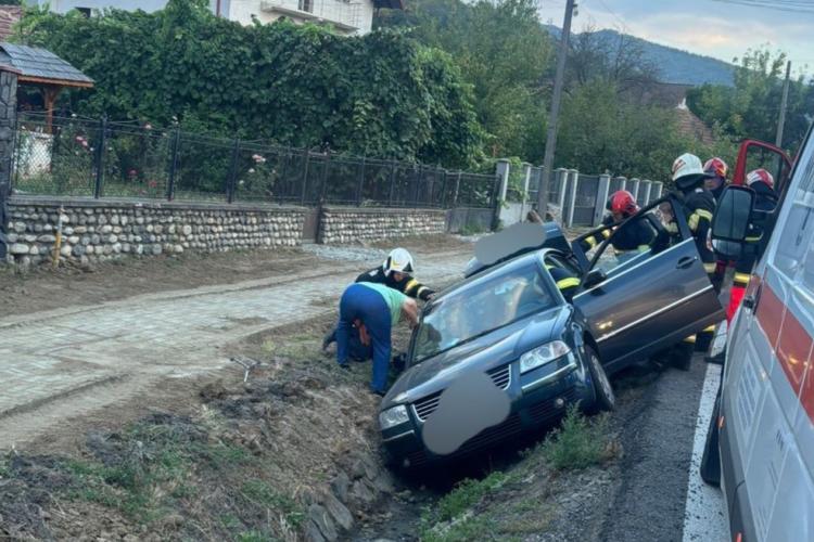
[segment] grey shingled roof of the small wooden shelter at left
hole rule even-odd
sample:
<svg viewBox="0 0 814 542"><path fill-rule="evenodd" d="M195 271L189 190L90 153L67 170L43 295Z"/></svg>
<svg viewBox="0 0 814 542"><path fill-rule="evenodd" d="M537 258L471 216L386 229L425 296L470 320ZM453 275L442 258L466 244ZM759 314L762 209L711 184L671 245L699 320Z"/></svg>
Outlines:
<svg viewBox="0 0 814 542"><path fill-rule="evenodd" d="M37 47L0 43L0 65L11 66L20 73L21 82L92 87L93 79L63 61L51 51Z"/></svg>

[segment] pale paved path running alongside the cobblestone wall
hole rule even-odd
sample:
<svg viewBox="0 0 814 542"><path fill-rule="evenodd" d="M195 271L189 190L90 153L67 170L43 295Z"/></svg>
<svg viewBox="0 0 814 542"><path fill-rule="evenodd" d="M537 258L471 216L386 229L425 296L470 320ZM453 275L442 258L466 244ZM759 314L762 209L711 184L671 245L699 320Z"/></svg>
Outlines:
<svg viewBox="0 0 814 542"><path fill-rule="evenodd" d="M345 261L341 251L300 254L305 266L264 279L0 319L0 448L24 448L46 434L59 439L75 430L72 420L230 364L219 351L229 341L333 311L359 270L381 261L379 250L348 254ZM417 251L420 276L453 278L470 255L460 242Z"/></svg>

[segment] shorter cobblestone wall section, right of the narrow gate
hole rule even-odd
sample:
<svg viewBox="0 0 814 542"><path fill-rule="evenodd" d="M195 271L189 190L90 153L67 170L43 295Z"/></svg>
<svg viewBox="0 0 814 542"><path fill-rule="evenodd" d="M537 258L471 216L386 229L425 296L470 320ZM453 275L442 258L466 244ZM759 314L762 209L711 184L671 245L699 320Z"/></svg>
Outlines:
<svg viewBox="0 0 814 542"><path fill-rule="evenodd" d="M319 223L319 242L353 243L446 231L445 210L325 207Z"/></svg>

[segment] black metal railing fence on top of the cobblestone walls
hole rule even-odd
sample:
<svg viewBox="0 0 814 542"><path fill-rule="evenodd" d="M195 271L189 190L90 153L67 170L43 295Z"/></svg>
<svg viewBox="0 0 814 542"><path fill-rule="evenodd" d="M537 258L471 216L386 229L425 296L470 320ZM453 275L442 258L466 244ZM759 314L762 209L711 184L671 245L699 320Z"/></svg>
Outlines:
<svg viewBox="0 0 814 542"><path fill-rule="evenodd" d="M14 193L355 206L495 206L494 175L21 113Z"/></svg>

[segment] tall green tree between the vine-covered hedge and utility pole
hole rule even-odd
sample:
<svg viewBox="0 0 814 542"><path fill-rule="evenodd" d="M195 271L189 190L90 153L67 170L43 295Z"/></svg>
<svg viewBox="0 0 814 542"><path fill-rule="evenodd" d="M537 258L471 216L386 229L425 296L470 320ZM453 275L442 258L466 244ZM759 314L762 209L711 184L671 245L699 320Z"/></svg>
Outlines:
<svg viewBox="0 0 814 542"><path fill-rule="evenodd" d="M451 54L472 86L486 153L539 159L546 117L540 81L551 67L552 47L537 2L418 0L408 10L385 11L377 25L408 27L423 43Z"/></svg>

